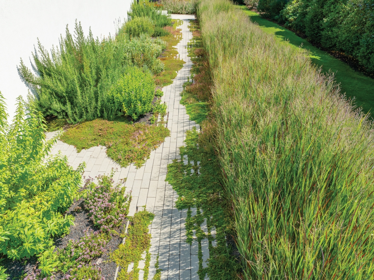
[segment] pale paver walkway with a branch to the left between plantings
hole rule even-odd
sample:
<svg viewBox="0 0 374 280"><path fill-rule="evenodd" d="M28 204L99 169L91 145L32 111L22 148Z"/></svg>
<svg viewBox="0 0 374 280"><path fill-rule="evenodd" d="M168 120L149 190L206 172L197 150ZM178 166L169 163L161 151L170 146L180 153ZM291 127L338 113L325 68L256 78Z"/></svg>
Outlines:
<svg viewBox="0 0 374 280"><path fill-rule="evenodd" d="M121 168L119 164L107 157L105 147L99 146L77 153L74 146L58 141L52 150L52 154L61 151L63 155L68 157L69 163L74 168L85 161L86 168L83 175L86 177L94 178L104 173L110 173L112 168L118 169L114 174L114 181L118 182L119 179L127 178L126 191L132 191L129 215L134 215L144 205L146 205L146 210L155 214L150 225L152 235L150 253L152 255L149 280L156 273L154 265L157 255L159 255L162 280L199 279L197 250L193 250L193 255L191 255L190 245L185 242L184 222L187 218L187 209L178 211L175 208L177 193L170 184L165 182L168 164L174 159L180 159L179 147L183 145L186 130L196 126L194 121L189 120L185 107L180 104L180 93L183 90L183 84L187 81L187 76L190 76L192 66L192 62L187 56L187 43L192 38L192 33L188 30L188 22L190 19L194 19L194 15L172 15L172 18L183 20L183 25L178 27L182 29L183 39L178 43L177 49L180 59L183 59L186 64L178 72L174 82L163 88L164 95L161 99L168 105L167 127L171 131L171 136L167 137L159 148L151 152L150 159L146 161L145 165L139 169L136 169L133 164ZM51 138L53 135L55 132L49 132L47 138ZM140 263L138 268L144 268L144 262ZM144 271L141 270L139 279L143 279L143 274Z"/></svg>

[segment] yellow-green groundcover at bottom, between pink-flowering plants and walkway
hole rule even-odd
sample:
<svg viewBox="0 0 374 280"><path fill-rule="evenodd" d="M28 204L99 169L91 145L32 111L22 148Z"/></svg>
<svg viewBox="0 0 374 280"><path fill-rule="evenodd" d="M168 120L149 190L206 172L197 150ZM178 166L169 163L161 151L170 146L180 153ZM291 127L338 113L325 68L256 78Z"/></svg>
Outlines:
<svg viewBox="0 0 374 280"><path fill-rule="evenodd" d="M149 248L151 247L151 235L148 233L148 225L154 218L154 214L146 210L135 213L130 218L128 232L123 237L126 237L125 243L120 244L118 249L114 250L110 255L110 259L120 266L120 271L117 280L130 280L139 278L138 264L141 261L141 255L146 253L146 263L144 267L144 279L147 275L150 262ZM132 271L127 272L128 266L134 262Z"/></svg>

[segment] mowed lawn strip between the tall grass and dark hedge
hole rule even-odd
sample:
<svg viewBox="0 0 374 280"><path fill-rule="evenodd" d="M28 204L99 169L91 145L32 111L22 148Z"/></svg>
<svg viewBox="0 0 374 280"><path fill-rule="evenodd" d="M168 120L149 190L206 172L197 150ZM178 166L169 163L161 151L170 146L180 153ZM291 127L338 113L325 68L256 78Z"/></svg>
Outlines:
<svg viewBox="0 0 374 280"><path fill-rule="evenodd" d="M355 98L355 104L362 107L365 113L370 112L374 117L374 79L354 71L349 65L334 58L329 53L312 46L307 40L298 37L292 31L266 19L261 18L257 13L248 10L245 6L241 9L251 18L253 22L266 32L274 34L276 39L285 44L309 50L309 56L313 63L322 66L324 73L332 71L335 73L337 83L340 83L341 92L346 93L347 98Z"/></svg>

